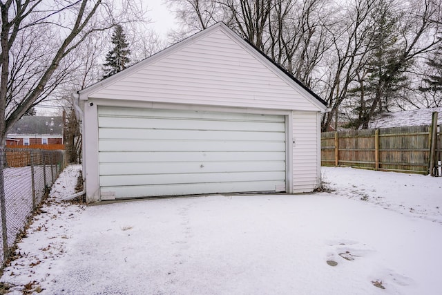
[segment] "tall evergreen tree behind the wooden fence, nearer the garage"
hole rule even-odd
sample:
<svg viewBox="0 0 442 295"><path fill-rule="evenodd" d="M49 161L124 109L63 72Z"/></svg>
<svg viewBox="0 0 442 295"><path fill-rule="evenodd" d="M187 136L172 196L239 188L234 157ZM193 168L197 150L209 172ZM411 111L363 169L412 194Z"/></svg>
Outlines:
<svg viewBox="0 0 442 295"><path fill-rule="evenodd" d="M408 84L404 74L408 64L403 59L398 42L398 18L392 12L392 3L381 0L372 17L374 26L369 43L370 54L358 75L358 86L349 90L351 95L358 94L359 98L354 108L357 117L349 124L356 129L367 129L374 115L388 112L398 91Z"/></svg>

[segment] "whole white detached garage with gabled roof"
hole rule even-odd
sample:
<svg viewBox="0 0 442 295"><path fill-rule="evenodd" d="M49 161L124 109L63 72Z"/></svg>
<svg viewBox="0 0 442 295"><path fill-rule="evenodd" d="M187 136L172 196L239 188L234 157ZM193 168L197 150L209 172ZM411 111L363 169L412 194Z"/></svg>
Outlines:
<svg viewBox="0 0 442 295"><path fill-rule="evenodd" d="M318 187L325 103L223 23L79 102L88 202Z"/></svg>

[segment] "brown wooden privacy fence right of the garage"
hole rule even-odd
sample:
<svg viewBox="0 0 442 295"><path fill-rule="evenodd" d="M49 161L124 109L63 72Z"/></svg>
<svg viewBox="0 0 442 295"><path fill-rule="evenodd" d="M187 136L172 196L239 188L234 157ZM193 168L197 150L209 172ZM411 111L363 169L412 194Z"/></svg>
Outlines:
<svg viewBox="0 0 442 295"><path fill-rule="evenodd" d="M434 174L440 175L441 153L437 146L442 146L441 132L434 126L433 152L432 126L322 133L321 164L422 174L428 174L434 166Z"/></svg>

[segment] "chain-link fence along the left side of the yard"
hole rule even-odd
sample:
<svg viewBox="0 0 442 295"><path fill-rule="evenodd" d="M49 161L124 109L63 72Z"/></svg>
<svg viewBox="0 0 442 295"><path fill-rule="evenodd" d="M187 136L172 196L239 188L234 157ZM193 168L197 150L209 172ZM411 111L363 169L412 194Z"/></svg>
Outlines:
<svg viewBox="0 0 442 295"><path fill-rule="evenodd" d="M65 151L0 148L1 264L66 166Z"/></svg>

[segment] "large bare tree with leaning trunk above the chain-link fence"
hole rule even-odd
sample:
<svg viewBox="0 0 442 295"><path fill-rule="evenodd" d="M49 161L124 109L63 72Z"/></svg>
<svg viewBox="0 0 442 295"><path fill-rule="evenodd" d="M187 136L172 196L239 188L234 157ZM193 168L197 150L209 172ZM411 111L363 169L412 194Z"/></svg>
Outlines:
<svg viewBox="0 0 442 295"><path fill-rule="evenodd" d="M0 3L1 145L5 143L8 129L29 108L41 102L53 90L57 81L66 75L63 68L66 66L63 63L64 58L81 44L87 35L97 30L90 28L88 24L101 7L101 0L79 0L74 3L56 1L52 9L45 7L44 1L41 0L8 0ZM65 17L72 21L61 23ZM55 44L57 32L64 37ZM41 37L39 33L51 39L37 43ZM44 48L39 48L42 45ZM20 61L20 57L23 56L28 59Z"/></svg>

